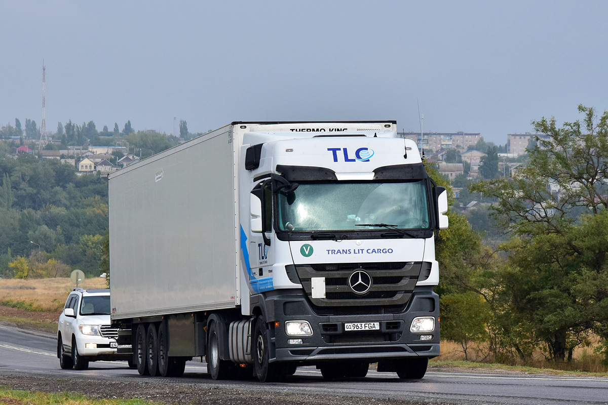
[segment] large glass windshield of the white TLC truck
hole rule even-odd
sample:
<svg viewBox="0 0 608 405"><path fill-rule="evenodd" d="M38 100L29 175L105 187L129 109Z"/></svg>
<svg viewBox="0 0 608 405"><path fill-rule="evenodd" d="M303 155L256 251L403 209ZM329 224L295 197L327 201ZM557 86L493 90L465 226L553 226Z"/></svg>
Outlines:
<svg viewBox="0 0 608 405"><path fill-rule="evenodd" d="M277 193L279 231L362 231L371 224L428 229L426 182L303 183ZM369 227L361 226L370 224ZM356 226L359 225L359 226Z"/></svg>

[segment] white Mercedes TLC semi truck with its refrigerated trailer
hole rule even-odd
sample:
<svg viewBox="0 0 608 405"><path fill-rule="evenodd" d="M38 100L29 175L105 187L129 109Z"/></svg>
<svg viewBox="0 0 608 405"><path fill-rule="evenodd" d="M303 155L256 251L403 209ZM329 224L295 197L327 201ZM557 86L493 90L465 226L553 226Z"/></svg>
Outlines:
<svg viewBox="0 0 608 405"><path fill-rule="evenodd" d="M119 350L142 375L422 378L446 211L396 121L233 122L111 173Z"/></svg>

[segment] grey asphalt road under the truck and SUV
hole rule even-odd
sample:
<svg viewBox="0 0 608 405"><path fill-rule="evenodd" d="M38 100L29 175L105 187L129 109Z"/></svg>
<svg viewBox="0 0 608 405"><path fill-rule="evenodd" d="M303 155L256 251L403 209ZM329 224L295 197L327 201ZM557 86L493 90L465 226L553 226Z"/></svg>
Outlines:
<svg viewBox="0 0 608 405"><path fill-rule="evenodd" d="M128 369L126 362L91 362L88 370L61 370L57 341L47 335L0 325L0 373L54 378L95 378L150 384L197 384L359 398L399 398L458 404L608 404L608 378L428 372L424 379L402 382L393 373L370 370L367 377L324 381L314 367L300 367L286 383L213 381L206 364L190 361L183 378L151 378ZM362 401L362 403L364 403Z"/></svg>

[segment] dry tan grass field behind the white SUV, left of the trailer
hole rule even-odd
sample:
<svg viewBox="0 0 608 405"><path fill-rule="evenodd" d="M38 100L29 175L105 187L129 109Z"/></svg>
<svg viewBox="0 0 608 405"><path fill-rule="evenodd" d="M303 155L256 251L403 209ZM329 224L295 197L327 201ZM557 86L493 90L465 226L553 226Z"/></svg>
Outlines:
<svg viewBox="0 0 608 405"><path fill-rule="evenodd" d="M24 302L41 311L58 311L63 308L67 295L75 287L68 277L55 279L17 280L0 279L0 302ZM106 279L85 279L78 287L106 288Z"/></svg>

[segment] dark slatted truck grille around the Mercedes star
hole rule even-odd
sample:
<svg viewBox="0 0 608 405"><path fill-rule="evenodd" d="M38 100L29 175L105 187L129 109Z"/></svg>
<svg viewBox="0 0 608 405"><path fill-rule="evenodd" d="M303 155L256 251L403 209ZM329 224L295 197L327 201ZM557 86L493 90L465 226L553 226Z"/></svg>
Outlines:
<svg viewBox="0 0 608 405"><path fill-rule="evenodd" d="M357 293L349 285L355 271L370 276L371 287ZM430 271L427 262L329 263L295 265L295 273L308 298L319 307L406 305L421 271ZM288 270L289 273L289 270ZM313 277L325 278L325 298L313 298ZM294 280L292 280L294 281Z"/></svg>

